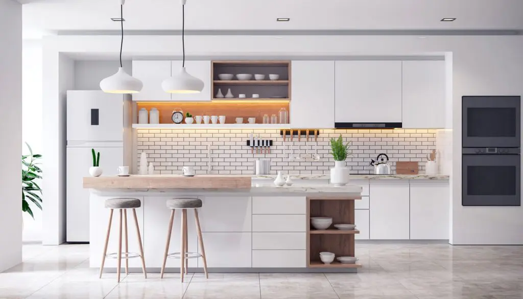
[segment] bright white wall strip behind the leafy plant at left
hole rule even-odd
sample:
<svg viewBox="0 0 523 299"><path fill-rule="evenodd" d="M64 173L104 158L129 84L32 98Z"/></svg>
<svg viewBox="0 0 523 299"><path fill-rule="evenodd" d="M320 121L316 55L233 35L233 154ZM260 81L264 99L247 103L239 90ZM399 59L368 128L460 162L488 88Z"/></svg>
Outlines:
<svg viewBox="0 0 523 299"><path fill-rule="evenodd" d="M25 142L33 153L42 153L42 41L22 43L22 152L28 154ZM44 174L45 175L45 174ZM39 180L38 180L39 181ZM38 182L41 186L41 183ZM45 201L45 196L42 196ZM44 202L45 204L45 202ZM35 219L24 213L24 241L42 240L42 212L32 205Z"/></svg>

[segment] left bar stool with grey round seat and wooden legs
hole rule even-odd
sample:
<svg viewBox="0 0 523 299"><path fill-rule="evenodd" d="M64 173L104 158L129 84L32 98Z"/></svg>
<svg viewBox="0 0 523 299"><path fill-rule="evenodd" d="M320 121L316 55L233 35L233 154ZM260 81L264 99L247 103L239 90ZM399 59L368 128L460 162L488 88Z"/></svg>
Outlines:
<svg viewBox="0 0 523 299"><path fill-rule="evenodd" d="M140 227L138 226L138 218L136 217L136 208L139 208L141 205L142 205L142 203L140 202L140 200L138 200L136 198L110 198L109 200L105 201L105 207L110 208L111 213L109 214L109 224L107 226L107 236L105 237L104 255L101 258L100 278L101 278L101 274L104 271L105 258L106 257L116 258L116 259L118 259L118 268L116 270L116 273L118 276L118 282L120 282L120 271L121 271L120 267L121 267L121 262L122 262L122 255L123 255L123 258L126 259L126 274L129 274L129 259L140 257L142 259L143 274L145 275L145 278L147 278L147 272L145 271L145 259L143 257L142 237L140 235ZM129 252L129 244L128 244L128 238L127 238L127 209L128 208L132 208L134 224L136 226L136 232L138 235L138 243L140 246L140 254ZM115 209L120 210L120 229L119 229L120 237L118 240L118 252L107 254L107 245L109 244L109 235L111 233L112 213L115 211ZM123 224L124 224L124 231L125 231L125 238L126 238L126 251L125 252L122 252L122 212L123 212Z"/></svg>

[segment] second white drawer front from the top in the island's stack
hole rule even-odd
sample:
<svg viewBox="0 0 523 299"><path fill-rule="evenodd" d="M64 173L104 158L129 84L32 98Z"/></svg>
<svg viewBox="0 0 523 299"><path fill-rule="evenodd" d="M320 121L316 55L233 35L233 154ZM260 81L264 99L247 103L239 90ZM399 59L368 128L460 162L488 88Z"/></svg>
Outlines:
<svg viewBox="0 0 523 299"><path fill-rule="evenodd" d="M253 215L253 231L305 232L305 215Z"/></svg>

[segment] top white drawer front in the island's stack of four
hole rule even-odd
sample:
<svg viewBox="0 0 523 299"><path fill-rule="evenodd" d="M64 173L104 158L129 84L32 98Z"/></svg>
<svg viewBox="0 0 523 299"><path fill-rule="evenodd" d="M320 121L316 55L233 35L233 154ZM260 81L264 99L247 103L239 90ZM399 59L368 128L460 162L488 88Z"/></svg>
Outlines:
<svg viewBox="0 0 523 299"><path fill-rule="evenodd" d="M305 197L253 197L253 214L305 215Z"/></svg>

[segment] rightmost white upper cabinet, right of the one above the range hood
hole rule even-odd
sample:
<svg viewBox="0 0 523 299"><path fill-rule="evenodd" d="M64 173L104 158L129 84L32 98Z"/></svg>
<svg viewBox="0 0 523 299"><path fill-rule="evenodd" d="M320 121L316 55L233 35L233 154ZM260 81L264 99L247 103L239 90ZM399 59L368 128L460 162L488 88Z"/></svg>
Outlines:
<svg viewBox="0 0 523 299"><path fill-rule="evenodd" d="M445 61L403 61L403 127L445 127Z"/></svg>

